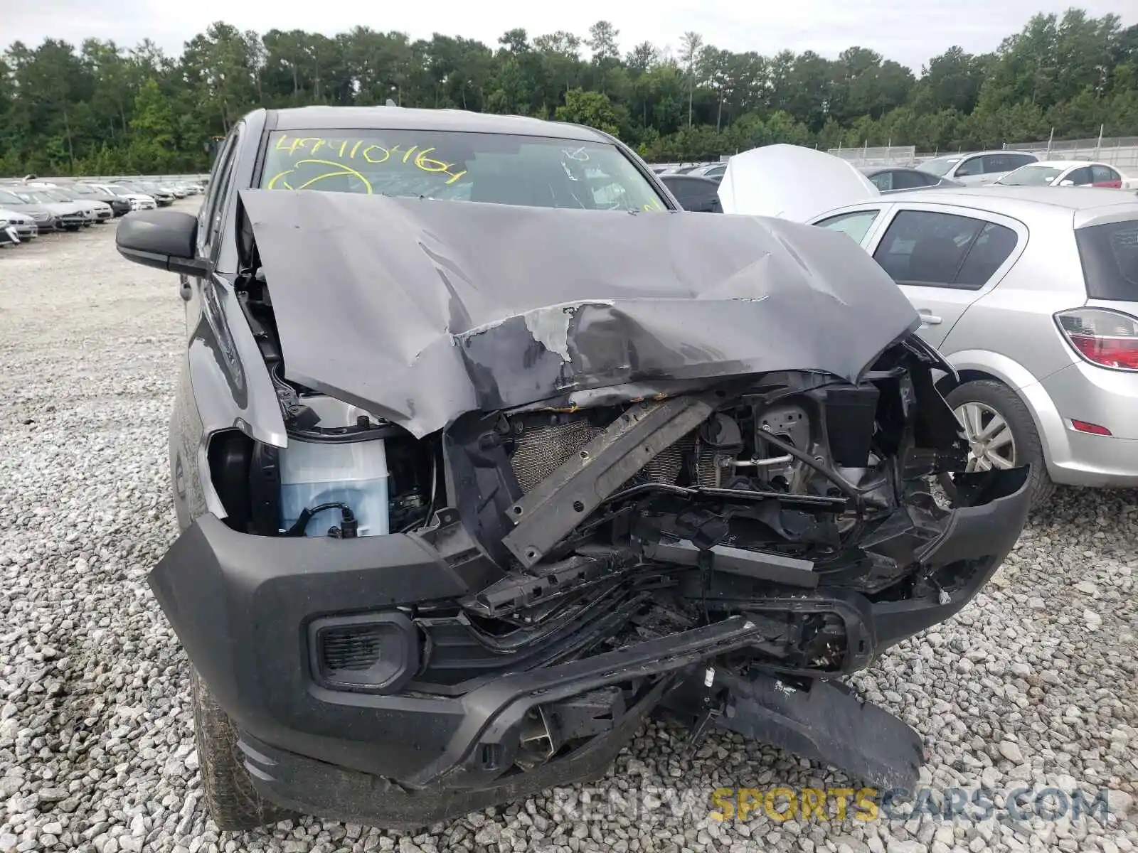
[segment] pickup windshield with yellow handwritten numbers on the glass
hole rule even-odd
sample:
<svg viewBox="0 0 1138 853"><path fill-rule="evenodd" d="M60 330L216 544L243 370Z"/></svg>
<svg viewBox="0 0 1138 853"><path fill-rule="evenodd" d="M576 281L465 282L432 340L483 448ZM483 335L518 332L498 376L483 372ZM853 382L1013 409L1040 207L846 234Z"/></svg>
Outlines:
<svg viewBox="0 0 1138 853"><path fill-rule="evenodd" d="M589 210L665 209L648 179L605 142L461 131L308 133L270 136L262 189Z"/></svg>

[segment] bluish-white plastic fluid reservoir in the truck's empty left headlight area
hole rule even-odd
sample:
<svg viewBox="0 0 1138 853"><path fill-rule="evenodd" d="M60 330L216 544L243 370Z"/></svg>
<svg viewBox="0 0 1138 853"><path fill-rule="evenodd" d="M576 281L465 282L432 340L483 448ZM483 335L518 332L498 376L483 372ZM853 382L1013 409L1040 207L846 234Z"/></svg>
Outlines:
<svg viewBox="0 0 1138 853"><path fill-rule="evenodd" d="M331 397L303 397L320 415L318 426L351 426L368 413ZM387 453L384 439L368 441L300 441L289 438L280 452L281 528L288 530L306 507L341 503L352 507L360 536L388 532ZM327 536L339 527L340 511L324 510L308 521L305 536Z"/></svg>

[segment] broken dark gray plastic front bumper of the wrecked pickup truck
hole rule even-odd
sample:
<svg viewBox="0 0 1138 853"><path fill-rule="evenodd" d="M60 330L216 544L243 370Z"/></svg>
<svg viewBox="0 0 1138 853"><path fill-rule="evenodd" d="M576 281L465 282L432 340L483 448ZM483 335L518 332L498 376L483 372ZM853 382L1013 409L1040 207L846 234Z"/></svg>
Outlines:
<svg viewBox="0 0 1138 853"><path fill-rule="evenodd" d="M601 775L662 696L699 664L760 643L772 624L761 616L772 612L839 614L848 632L848 670L950 618L991 577L1028 512L1025 469L990 472L975 482L981 480L987 488L973 489L975 505L958 508L941 538L915 555L931 582L920 595L875 601L819 586L816 595L764 598L710 626L471 679L450 693L336 690L313 673L315 619L405 613L412 605L429 610L477 591L417 536L254 537L206 515L174 543L150 586L200 677L237 723L246 768L264 796L347 820L422 826ZM409 666L421 671L431 654L418 648ZM629 685L634 701L584 745L508 772L519 763L523 727L534 713L556 717L558 703Z"/></svg>

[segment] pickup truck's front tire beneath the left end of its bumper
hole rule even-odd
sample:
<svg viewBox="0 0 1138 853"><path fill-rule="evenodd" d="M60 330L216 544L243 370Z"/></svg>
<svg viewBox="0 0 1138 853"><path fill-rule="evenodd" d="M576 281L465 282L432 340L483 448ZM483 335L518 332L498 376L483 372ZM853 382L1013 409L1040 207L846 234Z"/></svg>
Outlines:
<svg viewBox="0 0 1138 853"><path fill-rule="evenodd" d="M255 829L296 817L264 800L253 787L237 748L237 728L190 666L193 740L206 808L218 829Z"/></svg>

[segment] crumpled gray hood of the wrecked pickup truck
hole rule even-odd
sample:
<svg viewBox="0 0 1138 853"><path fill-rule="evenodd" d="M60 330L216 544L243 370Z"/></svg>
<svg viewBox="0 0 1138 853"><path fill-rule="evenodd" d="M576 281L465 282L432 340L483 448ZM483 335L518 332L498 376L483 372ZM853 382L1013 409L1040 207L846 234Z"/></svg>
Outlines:
<svg viewBox="0 0 1138 853"><path fill-rule="evenodd" d="M728 169L729 171L729 169ZM856 380L918 317L844 234L242 190L286 376L417 436L471 411L777 370Z"/></svg>

